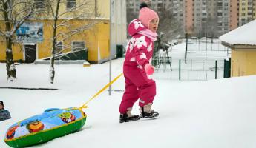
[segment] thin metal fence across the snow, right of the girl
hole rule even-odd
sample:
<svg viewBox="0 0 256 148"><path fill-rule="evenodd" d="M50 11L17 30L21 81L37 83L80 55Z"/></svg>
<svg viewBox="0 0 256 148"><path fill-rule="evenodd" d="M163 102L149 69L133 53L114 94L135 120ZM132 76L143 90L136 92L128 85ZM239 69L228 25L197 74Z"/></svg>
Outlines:
<svg viewBox="0 0 256 148"><path fill-rule="evenodd" d="M171 59L154 58L156 67L154 78L180 81L205 81L223 78L224 59Z"/></svg>

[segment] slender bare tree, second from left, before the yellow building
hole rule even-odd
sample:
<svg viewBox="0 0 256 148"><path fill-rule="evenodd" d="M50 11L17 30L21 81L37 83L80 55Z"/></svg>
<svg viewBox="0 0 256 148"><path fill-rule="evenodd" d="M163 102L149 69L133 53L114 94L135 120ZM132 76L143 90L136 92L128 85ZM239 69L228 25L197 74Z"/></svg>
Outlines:
<svg viewBox="0 0 256 148"><path fill-rule="evenodd" d="M68 3L70 2L70 3ZM73 1L67 0L46 0L46 6L50 11L50 16L53 17L53 39L52 39L52 47L51 47L51 57L50 57L50 83L53 84L55 70L54 70L54 61L56 55L59 54L57 47L62 41L69 41L72 36L77 35L78 33L83 33L85 30L91 29L95 24L99 23L99 20L95 19L100 14L97 14L96 10L90 10L91 4L88 1L82 1L79 4L72 3ZM66 10L60 10L60 6L65 4L67 6ZM70 4L70 5L68 5ZM80 24L78 26L74 26L70 24L71 21L74 20L82 20L88 19L95 13L95 18L93 21L88 22L87 24ZM65 28L65 32L59 31L59 28ZM70 49L71 44L66 44L62 50Z"/></svg>

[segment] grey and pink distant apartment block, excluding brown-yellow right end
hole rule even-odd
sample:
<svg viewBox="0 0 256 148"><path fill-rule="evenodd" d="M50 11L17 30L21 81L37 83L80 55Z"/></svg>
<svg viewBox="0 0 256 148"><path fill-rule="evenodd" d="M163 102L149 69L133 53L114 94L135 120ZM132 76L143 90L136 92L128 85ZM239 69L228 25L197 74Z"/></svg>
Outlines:
<svg viewBox="0 0 256 148"><path fill-rule="evenodd" d="M127 4L129 11L139 11L139 0ZM184 34L216 37L229 31L229 6L229 0L151 0L149 3L159 13L163 8L171 10Z"/></svg>

